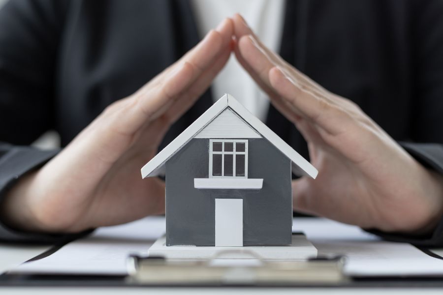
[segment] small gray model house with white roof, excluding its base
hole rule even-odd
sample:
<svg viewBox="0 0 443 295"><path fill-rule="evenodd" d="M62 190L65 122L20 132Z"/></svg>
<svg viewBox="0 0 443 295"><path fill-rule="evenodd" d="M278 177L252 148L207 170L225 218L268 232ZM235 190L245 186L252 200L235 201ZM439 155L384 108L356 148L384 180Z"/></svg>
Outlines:
<svg viewBox="0 0 443 295"><path fill-rule="evenodd" d="M225 94L142 169L166 175L166 245L291 243L291 172L317 170Z"/></svg>

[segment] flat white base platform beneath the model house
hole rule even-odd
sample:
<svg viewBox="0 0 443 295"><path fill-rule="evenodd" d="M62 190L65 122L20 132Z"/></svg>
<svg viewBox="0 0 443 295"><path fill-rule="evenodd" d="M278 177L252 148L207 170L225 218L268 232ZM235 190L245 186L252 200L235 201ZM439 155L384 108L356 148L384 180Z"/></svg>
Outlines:
<svg viewBox="0 0 443 295"><path fill-rule="evenodd" d="M306 260L317 256L317 249L304 235L292 235L291 245L273 246L166 246L162 236L149 248L149 256L166 259L279 259ZM221 253L222 252L222 253ZM251 255L255 254L255 257Z"/></svg>

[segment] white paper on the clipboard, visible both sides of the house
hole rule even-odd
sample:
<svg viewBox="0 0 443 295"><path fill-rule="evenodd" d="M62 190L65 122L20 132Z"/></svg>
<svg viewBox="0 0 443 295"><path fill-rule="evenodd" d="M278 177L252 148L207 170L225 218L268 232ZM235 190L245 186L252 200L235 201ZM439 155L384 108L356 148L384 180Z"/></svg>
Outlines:
<svg viewBox="0 0 443 295"><path fill-rule="evenodd" d="M443 260L405 243L380 240L360 228L327 219L296 218L293 230L304 232L319 255L348 257L350 275L443 275ZM163 217L148 217L126 225L98 229L51 256L14 268L13 272L117 274L127 273L129 253L146 254L165 231Z"/></svg>

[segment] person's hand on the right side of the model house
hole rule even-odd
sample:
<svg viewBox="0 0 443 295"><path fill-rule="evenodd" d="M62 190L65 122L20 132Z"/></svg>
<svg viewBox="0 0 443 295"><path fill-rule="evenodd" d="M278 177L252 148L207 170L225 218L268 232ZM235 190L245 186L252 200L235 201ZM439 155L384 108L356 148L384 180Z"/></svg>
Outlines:
<svg viewBox="0 0 443 295"><path fill-rule="evenodd" d="M443 213L443 177L417 163L350 100L267 49L240 15L237 59L308 142L318 177L293 181L296 210L363 228L423 233Z"/></svg>

